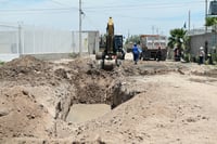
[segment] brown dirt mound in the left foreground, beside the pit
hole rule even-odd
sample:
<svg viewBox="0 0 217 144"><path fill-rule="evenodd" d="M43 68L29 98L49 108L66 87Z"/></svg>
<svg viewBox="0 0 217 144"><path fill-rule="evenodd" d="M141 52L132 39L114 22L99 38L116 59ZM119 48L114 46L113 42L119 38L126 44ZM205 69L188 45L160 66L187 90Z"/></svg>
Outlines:
<svg viewBox="0 0 217 144"><path fill-rule="evenodd" d="M0 95L0 138L52 135L51 115L25 88L1 88Z"/></svg>

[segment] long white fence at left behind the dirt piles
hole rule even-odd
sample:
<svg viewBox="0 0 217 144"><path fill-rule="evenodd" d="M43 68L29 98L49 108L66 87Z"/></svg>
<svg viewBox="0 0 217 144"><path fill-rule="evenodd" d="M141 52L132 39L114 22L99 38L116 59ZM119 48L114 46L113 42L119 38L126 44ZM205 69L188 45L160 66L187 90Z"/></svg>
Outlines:
<svg viewBox="0 0 217 144"><path fill-rule="evenodd" d="M81 34L82 53L99 50L99 31ZM79 32L35 26L0 25L0 61L20 55L63 54L79 52Z"/></svg>

